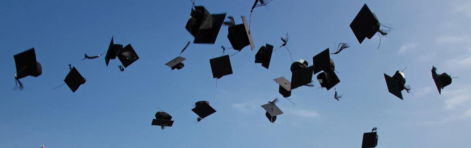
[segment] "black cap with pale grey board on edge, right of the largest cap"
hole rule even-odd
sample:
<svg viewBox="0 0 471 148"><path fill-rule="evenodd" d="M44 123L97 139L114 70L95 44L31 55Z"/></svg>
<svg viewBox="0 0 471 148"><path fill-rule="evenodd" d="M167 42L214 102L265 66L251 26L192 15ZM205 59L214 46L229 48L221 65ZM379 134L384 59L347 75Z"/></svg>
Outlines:
<svg viewBox="0 0 471 148"><path fill-rule="evenodd" d="M247 45L250 45L253 50L255 48L255 44L253 44L252 34L249 31L249 24L247 23L245 16L242 16L242 21L242 24L229 26L227 28L229 32L227 34L227 38L234 50L240 51Z"/></svg>

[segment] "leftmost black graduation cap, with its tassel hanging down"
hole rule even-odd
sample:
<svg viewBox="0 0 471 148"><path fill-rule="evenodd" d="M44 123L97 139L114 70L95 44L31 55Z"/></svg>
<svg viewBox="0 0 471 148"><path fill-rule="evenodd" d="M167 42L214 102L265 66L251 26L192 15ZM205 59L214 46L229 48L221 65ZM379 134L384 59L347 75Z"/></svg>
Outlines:
<svg viewBox="0 0 471 148"><path fill-rule="evenodd" d="M34 48L31 48L27 51L18 53L13 55L15 59L15 66L16 66L16 87L15 89L22 90L23 83L19 79L24 78L28 75L37 77L42 74L42 67L41 63L36 61L36 52L34 52ZM19 84L19 87L18 87Z"/></svg>

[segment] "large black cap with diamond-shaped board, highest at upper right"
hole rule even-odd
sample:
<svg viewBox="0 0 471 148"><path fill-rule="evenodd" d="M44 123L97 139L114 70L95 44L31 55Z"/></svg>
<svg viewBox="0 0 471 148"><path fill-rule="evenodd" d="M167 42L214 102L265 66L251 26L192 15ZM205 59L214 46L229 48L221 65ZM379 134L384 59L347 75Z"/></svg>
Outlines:
<svg viewBox="0 0 471 148"><path fill-rule="evenodd" d="M358 42L361 44L365 37L371 39L380 29L380 22L376 15L370 11L368 6L363 5L360 12L358 12L353 22L350 23L350 29L357 37Z"/></svg>

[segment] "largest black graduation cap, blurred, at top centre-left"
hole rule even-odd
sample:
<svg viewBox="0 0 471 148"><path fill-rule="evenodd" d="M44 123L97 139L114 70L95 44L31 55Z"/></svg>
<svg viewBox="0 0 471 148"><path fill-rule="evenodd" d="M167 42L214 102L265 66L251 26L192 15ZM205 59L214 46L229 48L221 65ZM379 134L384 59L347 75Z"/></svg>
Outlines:
<svg viewBox="0 0 471 148"><path fill-rule="evenodd" d="M214 44L225 18L225 13L211 15L203 6L195 6L185 28L195 37L193 43Z"/></svg>

